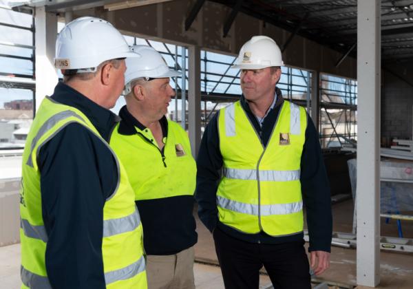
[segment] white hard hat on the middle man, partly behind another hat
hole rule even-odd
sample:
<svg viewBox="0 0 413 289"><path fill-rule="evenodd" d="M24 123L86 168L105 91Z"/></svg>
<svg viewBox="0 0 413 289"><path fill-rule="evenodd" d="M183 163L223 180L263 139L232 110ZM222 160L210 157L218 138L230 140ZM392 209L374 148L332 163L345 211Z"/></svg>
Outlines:
<svg viewBox="0 0 413 289"><path fill-rule="evenodd" d="M131 92L131 82L137 78L165 78L180 76L181 73L169 69L165 59L159 52L148 45L135 45L131 51L140 54L142 58L126 58L125 92Z"/></svg>

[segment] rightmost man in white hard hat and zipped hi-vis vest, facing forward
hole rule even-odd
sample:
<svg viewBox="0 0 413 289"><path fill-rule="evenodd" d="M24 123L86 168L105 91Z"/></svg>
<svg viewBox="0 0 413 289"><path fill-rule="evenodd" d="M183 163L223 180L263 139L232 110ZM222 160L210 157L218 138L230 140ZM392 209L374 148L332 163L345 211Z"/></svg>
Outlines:
<svg viewBox="0 0 413 289"><path fill-rule="evenodd" d="M202 137L195 198L226 288L258 288L262 266L275 288L311 288L303 204L311 266L316 275L329 266L332 217L321 148L306 110L276 87L282 65L273 39L247 41L233 66L241 69L242 96Z"/></svg>

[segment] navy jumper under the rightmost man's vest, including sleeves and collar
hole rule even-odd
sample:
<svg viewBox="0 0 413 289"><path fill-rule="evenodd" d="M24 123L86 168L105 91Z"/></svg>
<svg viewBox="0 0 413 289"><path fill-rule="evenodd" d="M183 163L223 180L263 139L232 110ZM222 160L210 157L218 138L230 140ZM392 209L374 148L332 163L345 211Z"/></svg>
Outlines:
<svg viewBox="0 0 413 289"><path fill-rule="evenodd" d="M284 102L281 91L276 87L277 100L275 106L268 111L262 122L262 126L255 118L244 96L241 97L241 105L246 111L251 124L260 136L264 147L273 132L277 122L279 109ZM216 192L221 175L223 160L220 151L218 136L218 115L215 114L207 127L200 145L197 158L197 186L195 199L198 202L198 215L209 231L218 226L224 233L237 239L251 243L280 244L285 242L301 241L303 233L285 237L272 237L264 232L246 234L222 224L218 220L218 208L216 206ZM310 246L308 250L324 250L330 252L332 237L332 213L330 186L324 160L321 153L319 138L313 121L308 116L306 128L306 140L301 155L301 193L307 213L308 234Z"/></svg>

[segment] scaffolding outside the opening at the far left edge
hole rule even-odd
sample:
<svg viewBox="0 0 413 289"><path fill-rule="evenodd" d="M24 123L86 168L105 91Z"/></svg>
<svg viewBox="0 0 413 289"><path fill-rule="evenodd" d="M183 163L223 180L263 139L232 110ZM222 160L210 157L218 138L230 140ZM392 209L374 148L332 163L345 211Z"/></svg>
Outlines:
<svg viewBox="0 0 413 289"><path fill-rule="evenodd" d="M22 149L25 136L14 131L30 125L36 107L34 16L0 6L0 18L0 149Z"/></svg>

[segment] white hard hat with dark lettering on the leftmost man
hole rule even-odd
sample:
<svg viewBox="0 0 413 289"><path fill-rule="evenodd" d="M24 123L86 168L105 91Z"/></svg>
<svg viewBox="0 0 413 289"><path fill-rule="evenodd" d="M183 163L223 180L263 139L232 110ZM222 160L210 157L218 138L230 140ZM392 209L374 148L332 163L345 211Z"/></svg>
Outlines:
<svg viewBox="0 0 413 289"><path fill-rule="evenodd" d="M126 57L140 55L130 52L125 38L111 23L81 17L68 23L57 36L54 66L94 72L103 61Z"/></svg>

